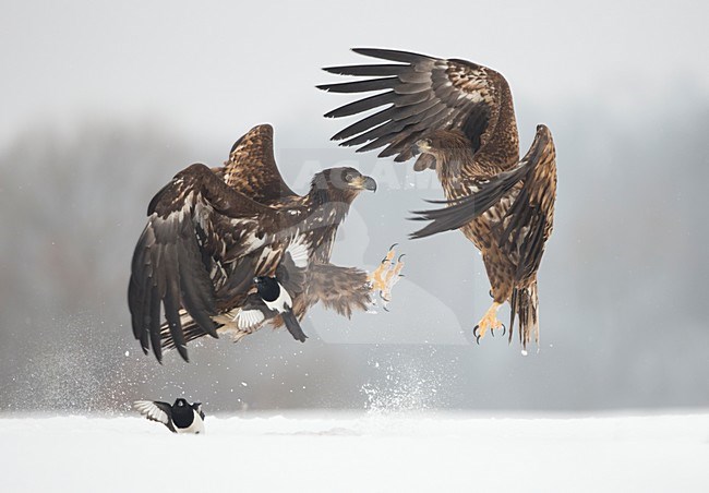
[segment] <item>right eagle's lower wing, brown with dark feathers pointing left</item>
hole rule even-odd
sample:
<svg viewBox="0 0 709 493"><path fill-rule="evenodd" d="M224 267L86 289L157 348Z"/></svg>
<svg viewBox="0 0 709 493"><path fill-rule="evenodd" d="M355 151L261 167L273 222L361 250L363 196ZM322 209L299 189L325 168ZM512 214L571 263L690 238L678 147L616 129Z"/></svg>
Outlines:
<svg viewBox="0 0 709 493"><path fill-rule="evenodd" d="M518 183L521 182L521 187ZM533 276L539 268L544 244L552 232L554 197L556 196L556 153L552 134L545 125L537 127L537 135L527 155L509 171L479 180L469 196L456 201L431 201L449 206L419 211L414 219L431 220L411 235L424 238L458 229L508 196L512 202L496 226L500 245L517 265L516 279ZM514 196L513 196L514 195Z"/></svg>

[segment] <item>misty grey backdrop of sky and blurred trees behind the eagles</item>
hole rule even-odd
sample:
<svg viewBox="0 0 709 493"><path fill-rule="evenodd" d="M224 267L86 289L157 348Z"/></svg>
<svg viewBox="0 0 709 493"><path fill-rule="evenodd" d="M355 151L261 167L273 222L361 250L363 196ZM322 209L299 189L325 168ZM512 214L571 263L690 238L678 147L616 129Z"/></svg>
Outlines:
<svg viewBox="0 0 709 493"><path fill-rule="evenodd" d="M701 2L3 2L0 19L0 410L208 412L288 408L615 410L709 406L709 35ZM541 344L471 330L490 304L462 235L408 241L440 199L432 172L339 148L350 98L320 68L370 46L501 71L522 154L557 149L555 228L540 279ZM263 328L203 339L163 365L133 339L125 293L152 196L275 127L286 181L356 166L380 184L333 261L406 277L389 312L310 311L307 344ZM501 310L506 321L508 309Z"/></svg>

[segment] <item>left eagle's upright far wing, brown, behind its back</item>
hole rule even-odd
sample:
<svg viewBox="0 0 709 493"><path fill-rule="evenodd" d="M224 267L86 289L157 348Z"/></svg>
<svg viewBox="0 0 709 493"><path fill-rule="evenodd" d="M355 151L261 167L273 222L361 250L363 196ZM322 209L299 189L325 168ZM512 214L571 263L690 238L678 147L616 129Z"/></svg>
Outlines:
<svg viewBox="0 0 709 493"><path fill-rule="evenodd" d="M256 125L241 136L217 172L229 187L256 202L271 204L285 196L297 196L276 166L274 129L269 124Z"/></svg>

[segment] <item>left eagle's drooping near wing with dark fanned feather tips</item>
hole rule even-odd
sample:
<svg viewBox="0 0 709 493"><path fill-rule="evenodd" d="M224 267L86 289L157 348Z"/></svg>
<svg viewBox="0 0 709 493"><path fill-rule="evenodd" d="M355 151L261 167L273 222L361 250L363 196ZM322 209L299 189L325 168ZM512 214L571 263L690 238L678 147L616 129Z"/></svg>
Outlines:
<svg viewBox="0 0 709 493"><path fill-rule="evenodd" d="M277 237L302 213L292 212L279 214L247 197L204 165L176 175L151 202L149 219L133 254L128 298L133 335L143 351L147 353L152 345L161 360L160 304L175 346L185 360L181 308L202 330L217 337L212 320L217 314L217 296L211 274L233 267L259 249L285 249L288 243Z"/></svg>

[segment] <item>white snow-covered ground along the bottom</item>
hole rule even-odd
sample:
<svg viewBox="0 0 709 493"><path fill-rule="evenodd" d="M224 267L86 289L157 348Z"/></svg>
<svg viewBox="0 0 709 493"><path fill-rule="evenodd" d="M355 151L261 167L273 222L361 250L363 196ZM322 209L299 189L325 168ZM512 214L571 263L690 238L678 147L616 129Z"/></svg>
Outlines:
<svg viewBox="0 0 709 493"><path fill-rule="evenodd" d="M709 491L709 413L3 418L4 492Z"/></svg>

